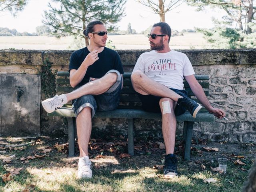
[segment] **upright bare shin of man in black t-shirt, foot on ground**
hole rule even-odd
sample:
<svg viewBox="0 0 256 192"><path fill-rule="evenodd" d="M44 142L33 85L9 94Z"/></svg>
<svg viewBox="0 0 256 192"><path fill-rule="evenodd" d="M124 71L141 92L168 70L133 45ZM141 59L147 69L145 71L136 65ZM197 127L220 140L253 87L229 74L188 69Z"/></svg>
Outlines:
<svg viewBox="0 0 256 192"><path fill-rule="evenodd" d="M88 144L92 131L92 109L84 108L76 118L80 158L88 156Z"/></svg>

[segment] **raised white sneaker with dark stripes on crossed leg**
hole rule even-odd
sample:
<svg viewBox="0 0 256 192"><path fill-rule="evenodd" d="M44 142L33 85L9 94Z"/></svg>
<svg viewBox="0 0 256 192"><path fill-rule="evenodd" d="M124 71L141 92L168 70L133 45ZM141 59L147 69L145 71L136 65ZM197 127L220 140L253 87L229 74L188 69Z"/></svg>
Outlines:
<svg viewBox="0 0 256 192"><path fill-rule="evenodd" d="M66 95L62 94L60 96L56 95L53 98L46 99L42 101L42 106L44 110L48 113L52 113L56 111L58 108L62 107L64 104L68 102Z"/></svg>

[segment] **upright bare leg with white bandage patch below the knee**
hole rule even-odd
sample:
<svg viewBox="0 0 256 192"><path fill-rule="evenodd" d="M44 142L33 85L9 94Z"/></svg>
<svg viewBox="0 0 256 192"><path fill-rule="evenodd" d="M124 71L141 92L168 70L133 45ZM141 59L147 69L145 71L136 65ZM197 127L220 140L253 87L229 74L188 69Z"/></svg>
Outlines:
<svg viewBox="0 0 256 192"><path fill-rule="evenodd" d="M171 113L163 114L162 102L169 101L171 106ZM164 136L164 144L166 148L166 154L174 153L175 136L176 136L176 117L174 114L174 108L176 102L170 98L162 98L159 101L159 105L162 112L162 132Z"/></svg>

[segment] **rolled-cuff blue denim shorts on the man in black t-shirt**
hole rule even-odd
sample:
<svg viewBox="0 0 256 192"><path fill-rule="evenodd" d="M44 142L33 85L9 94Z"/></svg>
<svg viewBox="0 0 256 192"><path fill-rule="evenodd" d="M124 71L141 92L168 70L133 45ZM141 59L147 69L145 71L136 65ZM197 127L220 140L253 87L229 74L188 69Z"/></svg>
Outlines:
<svg viewBox="0 0 256 192"><path fill-rule="evenodd" d="M105 93L100 95L84 95L80 98L72 100L72 109L76 117L85 107L92 108L92 118L96 110L110 111L117 108L122 88L122 76L117 70L110 70L106 74L108 73L116 73L118 75L118 78L116 83L112 87L110 87Z"/></svg>

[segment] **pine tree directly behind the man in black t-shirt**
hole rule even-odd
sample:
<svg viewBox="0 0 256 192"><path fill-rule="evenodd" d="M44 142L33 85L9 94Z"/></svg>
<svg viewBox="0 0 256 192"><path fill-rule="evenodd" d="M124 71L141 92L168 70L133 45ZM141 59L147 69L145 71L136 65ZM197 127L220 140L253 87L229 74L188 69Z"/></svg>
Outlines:
<svg viewBox="0 0 256 192"><path fill-rule="evenodd" d="M73 35L85 39L83 31L93 20L100 20L108 30L113 30L116 22L124 16L126 0L54 0L60 8L54 8L49 3L50 10L44 12L43 23L51 29L56 37Z"/></svg>

